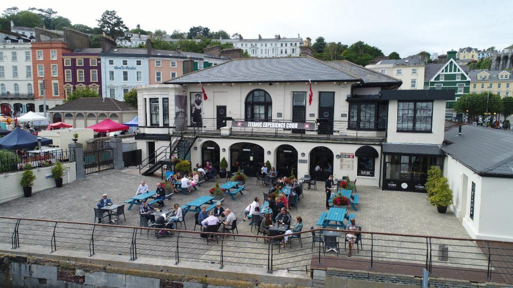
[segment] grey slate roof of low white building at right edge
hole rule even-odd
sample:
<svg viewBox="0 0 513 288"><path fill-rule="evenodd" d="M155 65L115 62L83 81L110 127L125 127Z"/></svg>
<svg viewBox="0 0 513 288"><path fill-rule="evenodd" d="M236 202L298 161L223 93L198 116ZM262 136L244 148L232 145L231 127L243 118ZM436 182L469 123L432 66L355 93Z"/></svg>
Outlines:
<svg viewBox="0 0 513 288"><path fill-rule="evenodd" d="M465 125L461 135L458 127L444 134L447 145L442 150L482 176L513 178L513 133Z"/></svg>

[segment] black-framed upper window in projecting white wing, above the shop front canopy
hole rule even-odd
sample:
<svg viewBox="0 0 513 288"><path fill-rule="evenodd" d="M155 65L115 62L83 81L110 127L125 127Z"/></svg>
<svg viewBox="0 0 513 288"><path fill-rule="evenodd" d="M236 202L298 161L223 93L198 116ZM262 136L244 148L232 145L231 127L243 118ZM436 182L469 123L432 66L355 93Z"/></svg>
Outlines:
<svg viewBox="0 0 513 288"><path fill-rule="evenodd" d="M431 132L433 102L398 102L397 131Z"/></svg>

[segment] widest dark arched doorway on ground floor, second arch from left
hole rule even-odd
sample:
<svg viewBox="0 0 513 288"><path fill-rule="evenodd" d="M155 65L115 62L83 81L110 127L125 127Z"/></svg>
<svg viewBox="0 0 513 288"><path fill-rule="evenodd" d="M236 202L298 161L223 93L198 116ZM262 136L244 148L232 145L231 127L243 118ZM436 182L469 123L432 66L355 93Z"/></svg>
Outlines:
<svg viewBox="0 0 513 288"><path fill-rule="evenodd" d="M264 148L260 145L241 142L230 147L230 171L237 171L240 167L244 174L254 177L263 164Z"/></svg>

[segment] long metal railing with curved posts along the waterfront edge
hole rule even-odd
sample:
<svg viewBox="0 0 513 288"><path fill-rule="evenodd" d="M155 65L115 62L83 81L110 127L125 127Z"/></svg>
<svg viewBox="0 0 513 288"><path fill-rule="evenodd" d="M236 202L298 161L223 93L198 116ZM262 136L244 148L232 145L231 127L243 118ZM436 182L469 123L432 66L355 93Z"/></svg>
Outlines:
<svg viewBox="0 0 513 288"><path fill-rule="evenodd" d="M272 242L280 242L283 236L235 234L233 237L215 233L220 237L205 240L200 237L202 232L173 230L173 237L155 239L156 231L108 224L0 217L0 243L9 244L12 249L37 245L41 252L45 249L48 252L78 250L89 252L90 257L96 253L121 255L126 260L144 256L174 259L176 264L183 260L213 262L221 268L224 265L243 265L266 268L269 272L308 273L311 264L326 261L324 246L328 242L324 243L322 234L332 231L342 236L345 232L314 229L294 233L290 235L300 236L301 240L293 239L286 248L281 248ZM270 240L269 244L264 239ZM336 242L342 256L344 239L339 237ZM513 267L513 243L509 242L362 232L361 246L359 249L354 246L354 250L358 253L351 258L351 265L363 263L373 269L392 263L398 268L394 273L398 274L418 269L422 275L422 269L426 269L432 275L444 278L451 278L447 275L465 275L467 278L464 279L469 280L473 277L507 283ZM339 263L348 262L348 258L339 254L328 255L337 256L335 259L340 259Z"/></svg>

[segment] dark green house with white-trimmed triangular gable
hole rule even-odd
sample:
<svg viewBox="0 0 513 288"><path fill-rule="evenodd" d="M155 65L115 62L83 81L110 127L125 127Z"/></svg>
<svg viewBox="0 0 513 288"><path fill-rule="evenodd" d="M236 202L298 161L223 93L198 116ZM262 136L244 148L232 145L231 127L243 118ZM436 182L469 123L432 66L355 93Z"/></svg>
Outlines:
<svg viewBox="0 0 513 288"><path fill-rule="evenodd" d="M456 51L447 51L447 61L443 64L428 64L424 72L425 90L455 90L456 99L460 95L470 92L470 77L456 63ZM455 119L457 117L454 108L455 101L447 101L446 119Z"/></svg>

